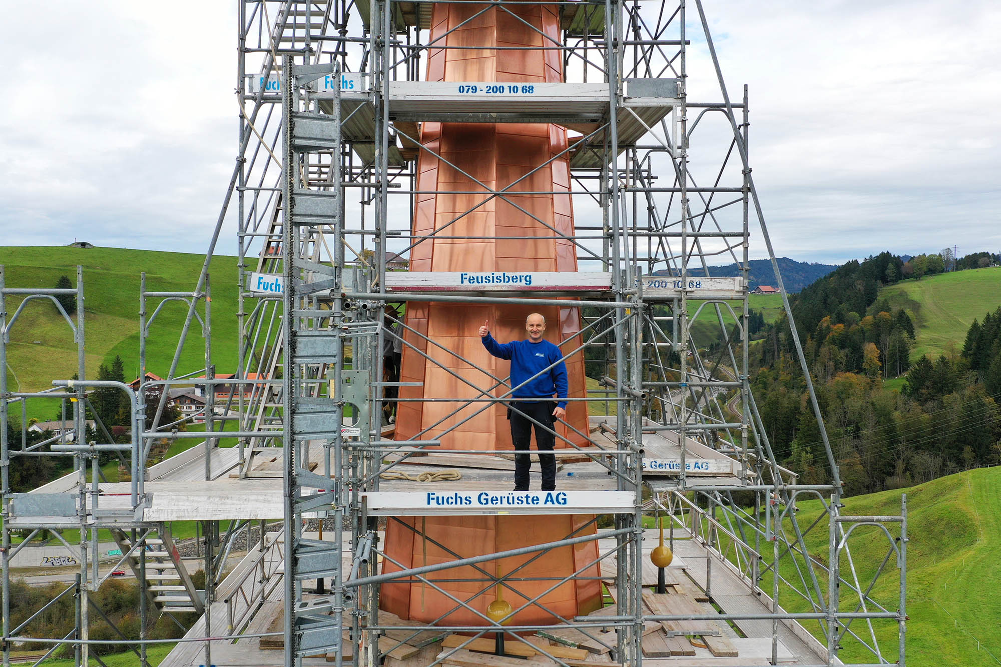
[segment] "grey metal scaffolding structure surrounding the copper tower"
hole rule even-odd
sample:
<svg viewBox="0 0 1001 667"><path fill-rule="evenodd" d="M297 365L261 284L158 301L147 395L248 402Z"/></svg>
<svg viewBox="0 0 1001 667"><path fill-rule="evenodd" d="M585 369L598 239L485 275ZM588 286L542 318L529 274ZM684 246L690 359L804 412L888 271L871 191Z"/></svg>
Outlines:
<svg viewBox="0 0 1001 667"><path fill-rule="evenodd" d="M74 330L80 351L77 380L59 381L54 391L13 393L6 374L0 374L4 667L10 664L12 644L31 637L22 631L30 631L29 622L13 628L8 621L9 561L43 530L56 536L79 532L74 549L80 575L67 589L78 598L77 629L64 642L75 647L77 664L88 664L87 592L110 576L99 571L96 558L98 531L103 529L112 532L121 549L114 569L129 566L142 587L143 632L147 615L154 612L200 615L197 632L189 637L203 639L187 644L197 650L194 664L212 664L212 651L219 646L218 640L204 638L278 634L259 628L251 632L248 622L269 594L261 581L280 577L280 636L283 664L289 666L317 654L328 654L338 666L376 665L406 643L396 639L401 632L419 636L424 645L448 633L466 633L462 643L426 663L449 664L450 656L480 637L504 634L509 643L528 644L528 635L554 627L573 629L598 642L616 664L640 665L645 660L645 622L680 621L766 622L772 630L772 664L780 659L780 631L790 631L803 635L816 658L801 656L798 664L849 664L840 656L842 647L849 647L854 660L850 664L903 665L906 505L899 516L841 513L837 461L752 177L748 91L745 87L739 100L730 97L701 0L447 2L468 5L476 16L511 13L513 7L554 8L561 39L526 23L527 31L539 33L533 37L537 45L490 49L502 55L507 49L511 57L529 50L555 53L563 79L536 86L426 80L425 65L435 50L478 48L447 46L442 35L432 36L432 2L238 3L237 163L194 289L147 290L143 277L140 385L135 391L115 386L131 401L131 443L114 445L106 433L98 436L106 444L80 438L71 444L63 438L47 452L38 445L29 448L24 439L20 447L9 442L11 406L20 403L23 408L42 397L71 401L66 404L71 421L76 433L83 434L88 392L109 384L85 380L82 272L72 290L15 289L5 286L0 268L0 368L6 366L9 328L24 307L22 302L8 318L5 299L11 296L75 294L79 305ZM712 66L708 79L695 86L708 101L689 98L693 44ZM566 159L571 187L537 191L530 189L529 178L521 186L516 182L496 189L483 185L475 192L456 190L451 193L475 197L468 210L429 231L419 228L413 220L417 200L449 193L437 185L426 189L418 184L418 156L434 154L433 147L421 142L422 123L566 127L572 132L569 147L532 167L535 171ZM464 173L445 156L434 158ZM518 197L535 194L573 198L572 233L526 210ZM503 239L454 232L464 216L491 199L533 217L540 235L572 247L579 272L539 272L533 282L513 288L470 285L452 274L412 266L402 270L413 248L435 238ZM209 343L211 318L219 313L210 311L208 264L227 215L238 225L240 346L235 378L219 380ZM761 230L793 327L792 341L823 437L828 484L799 484L795 472L782 467L751 393L752 227ZM738 265L738 276L713 274L713 264L728 262ZM168 301L181 301L187 317L168 377L159 381L146 375L146 340ZM147 318L147 304L152 302L157 305ZM386 522L441 514L415 500L422 492L387 482L386 475L399 472L417 455L441 452L442 439L456 421L461 424L452 420L433 434L424 429L413 438L393 440L393 425L385 419L406 401L399 390L408 383L386 380L381 351L398 341L428 363L439 358L431 352L433 340L391 314L387 306L431 302L580 308L580 336L564 342L562 352L568 359L584 356L588 376L595 381L587 396L571 399L590 409L587 432L576 432L587 445L572 442L563 435L568 431L556 435L565 447L577 450L590 467L589 475L601 472L600 478L588 478L591 490L568 490L570 500L560 510L591 517L586 521L590 533L578 529L498 553L451 552L447 562L416 567L395 563L394 571L384 569L392 560L380 543ZM67 320L73 325L68 315ZM204 367L181 369L182 349L198 324L205 337ZM461 351L447 354L477 369ZM493 380L491 386L466 382L475 398L463 394L440 399L455 406L448 418L510 402L508 379ZM192 384L205 388L206 405L198 413L205 420L204 433L161 425L168 390ZM216 392L221 385L230 388L224 398ZM226 422L236 422L235 431L216 428ZM162 475L147 473L150 447L164 438L204 438L194 451L201 458L165 467ZM236 445L220 448L222 438L234 438ZM106 499L111 485L98 480L96 462L102 451L118 453L131 471L128 493L116 496L115 502ZM8 462L43 452L72 456L75 478L31 494L9 494ZM444 452L454 457L482 454L454 447ZM280 490L274 475L262 478L254 473L254 462L267 457L281 462ZM184 465L198 467L197 475L188 471L187 477L170 477L179 475ZM162 486L157 486L161 480ZM177 501L166 485L176 482L169 480L190 483L178 492L190 508L171 505ZM240 495L239 488L253 491ZM807 498L819 500L820 517L801 527L796 512ZM235 507L237 500L246 505ZM220 509L220 503L225 507ZM553 509L506 507L498 512L476 507L461 514L549 512ZM707 600L716 602L714 568L720 568L765 601L767 610L717 605L713 613L680 613L645 608L644 518L651 515L667 520L673 549L682 549L684 540L705 552L705 579L697 583ZM611 519L600 522L599 517ZM192 583L173 544L168 522L181 519L204 527L203 590ZM282 520L280 538L266 537L267 519ZM251 551L256 560L239 570L242 579L235 584L223 581L236 538L244 535L250 542L255 522L258 546ZM826 549L818 559L811 556L808 542L810 533L824 525ZM860 528L870 539L874 531L887 539L887 557L871 571L852 558L849 538ZM27 532L17 545L14 531ZM504 559L531 559L586 543L600 545L598 561L575 568L552 585L585 579L596 564L603 566L601 580L614 582L616 589L614 615L599 621L583 614L553 613L546 624L512 625L510 618L487 618L473 609L473 599L484 592L495 588L514 594L523 585L517 571L499 572L496 564ZM900 577L896 608L872 593L891 558ZM442 584L446 579L432 576L461 567L478 573L479 590L466 599L448 593ZM255 584L247 572L266 577ZM871 582L862 579L863 572L871 575ZM447 615L416 624L393 616L385 620L381 591L400 582L419 582L448 596L456 609L474 611L481 618L472 625L448 623ZM233 606L235 591L244 596L242 606ZM523 608L549 611L544 597L526 596ZM223 616L213 615L213 609ZM226 619L225 629L213 620L218 618ZM800 632L804 626L819 628L816 634L823 639ZM393 637L388 645L379 640L386 635ZM148 642L145 634L141 639L135 650L145 664ZM53 651L59 645L53 643ZM555 664L571 664L545 647L533 646ZM855 659L860 653L869 657Z"/></svg>

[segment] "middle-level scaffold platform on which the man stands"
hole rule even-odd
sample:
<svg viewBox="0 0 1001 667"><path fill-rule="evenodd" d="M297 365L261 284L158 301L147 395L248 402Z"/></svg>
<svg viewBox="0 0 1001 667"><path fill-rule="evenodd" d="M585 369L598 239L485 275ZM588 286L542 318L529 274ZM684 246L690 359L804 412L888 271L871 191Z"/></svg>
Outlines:
<svg viewBox="0 0 1001 667"><path fill-rule="evenodd" d="M631 513L636 509L636 494L618 491L605 451L615 451L616 418L592 417L593 446L562 449L557 459L557 491L540 492L538 452L532 451L531 493L512 492L514 452L484 454L435 454L417 451L390 454L386 461L396 475L380 480L378 491L362 494L372 516L434 515L505 515L505 514L607 514ZM659 425L645 422L653 428ZM681 470L679 435L670 432L643 434L643 475L657 480L675 479ZM269 450L273 452L269 453ZM144 484L141 506L131 510L131 483L98 484L97 511L93 495L85 495L88 522L119 527L169 521L227 521L242 519L280 519L283 498L281 478L272 471L281 470L283 453L279 448L256 448L246 453L261 456L261 468L249 470L244 477L237 472L239 451L236 448L213 448L205 480L204 444L177 457L153 466ZM740 484L740 465L695 439L686 438L686 474L688 487ZM256 468L256 467L255 467ZM401 474L400 474L401 473ZM441 473L449 473L443 479ZM432 480L429 484L427 481ZM389 478L395 479L389 479ZM677 485L676 485L677 486ZM17 494L11 503L11 526L68 523L63 515L40 513L44 500L63 506L79 493L78 479L67 475L29 494ZM29 505L22 498L31 499ZM20 501L20 502L19 502ZM67 506L68 507L68 506ZM76 516L75 506L72 516ZM74 520L69 520L74 521Z"/></svg>

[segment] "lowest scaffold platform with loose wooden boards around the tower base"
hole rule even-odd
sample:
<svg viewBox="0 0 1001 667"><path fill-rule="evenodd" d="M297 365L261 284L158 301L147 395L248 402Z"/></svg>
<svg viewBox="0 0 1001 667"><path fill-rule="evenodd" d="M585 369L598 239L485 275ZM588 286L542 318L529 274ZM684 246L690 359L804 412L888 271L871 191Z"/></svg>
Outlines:
<svg viewBox="0 0 1001 667"><path fill-rule="evenodd" d="M316 533L306 533L304 538L315 539ZM382 534L378 534L379 541ZM349 544L349 533L343 534L343 543ZM642 551L644 559L643 586L648 590L657 583L657 569L650 563L650 552L657 544L658 534L654 530L644 531ZM671 566L666 570L668 593L658 597L649 594L648 603L655 606L667 604L670 608L685 609L692 614L743 614L767 615L770 611L768 596L752 591L747 579L728 563L711 555L699 539L682 529L676 529L672 543L676 553ZM606 554L616 548L614 540L599 541L599 550ZM218 637L211 643L211 661L219 666L280 667L283 665L280 636L242 637L228 639L229 635L257 635L280 631L284 609L284 570L281 556L284 540L280 533L266 535L264 544L254 548L233 568L219 584L219 602L212 605L212 628L226 628L225 632L213 633ZM344 567L349 569L351 551L342 553ZM710 566L709 561L712 560ZM612 594L602 611L577 619L586 623L594 622L602 616L615 612L617 581L616 560L606 559L603 565L603 581ZM260 578L260 573L265 573ZM707 582L707 572L709 580ZM312 605L322 600L322 596L311 592L315 582L304 582L302 600L304 605ZM712 603L707 594L712 592ZM719 607L719 609L717 609ZM660 607L658 607L660 609ZM650 607L645 613L654 614ZM470 636L447 631L409 631L416 626L413 622L402 621L391 614L381 613L380 625L386 627L379 639L380 652L387 653L384 664L389 667L425 667L444 658L444 665L492 665L508 667L509 664L558 664L548 659L542 651L552 651L563 660L575 660L569 664L580 667L594 664L622 665L611 660L603 642L612 640L614 632L608 627L581 629L573 626L553 626L539 628L536 632L524 633L522 643L515 637L508 639L511 657L496 658L489 655L489 646L482 639L473 640L465 648L459 648ZM229 627L231 625L231 628ZM611 626L611 622L610 622ZM582 630L595 634L597 640L589 639ZM676 665L697 667L765 667L771 665L773 641L781 665L812 665L822 662L824 652L819 642L806 629L795 622L783 621L774 629L771 621L738 619L731 623L719 620L677 621L656 623L645 622L644 663L655 667ZM187 633L187 637L204 635L204 618L197 621ZM349 642L345 641L345 646ZM535 648L533 648L535 647ZM361 650L366 649L362 643ZM575 651L581 651L578 656ZM529 655L525 655L530 653ZM534 655L532 654L534 653ZM666 654L666 655L665 655ZM306 666L329 664L333 653L319 652L302 659ZM362 659L364 653L361 654ZM204 643L182 642L164 658L161 667L200 667L204 664ZM344 656L345 661L351 655ZM526 659L529 662L526 663ZM519 663L512 662L519 660Z"/></svg>

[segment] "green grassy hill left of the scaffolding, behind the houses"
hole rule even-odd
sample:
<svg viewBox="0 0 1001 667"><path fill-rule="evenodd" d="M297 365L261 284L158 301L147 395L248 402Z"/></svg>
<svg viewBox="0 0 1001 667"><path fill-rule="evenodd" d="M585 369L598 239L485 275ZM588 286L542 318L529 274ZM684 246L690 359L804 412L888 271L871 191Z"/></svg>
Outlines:
<svg viewBox="0 0 1001 667"><path fill-rule="evenodd" d="M203 261L201 254L110 247L0 247L8 287L52 287L60 275L75 284L76 266L83 266L86 368L91 378L115 355L125 363L128 380L138 375L140 272L146 272L147 290L193 290ZM236 368L236 257L213 258L212 359L217 373ZM8 298L8 317L20 302L19 297ZM147 304L147 316L155 306ZM185 315L186 306L178 301L167 303L157 315L147 341L147 369L152 373L165 376L169 370ZM204 350L195 321L179 372L203 368ZM11 329L7 361L9 387L14 391L47 389L52 380L69 379L76 372L72 332L51 301L36 299L25 307ZM35 415L29 410L29 417L51 419L55 408L36 403L42 412Z"/></svg>

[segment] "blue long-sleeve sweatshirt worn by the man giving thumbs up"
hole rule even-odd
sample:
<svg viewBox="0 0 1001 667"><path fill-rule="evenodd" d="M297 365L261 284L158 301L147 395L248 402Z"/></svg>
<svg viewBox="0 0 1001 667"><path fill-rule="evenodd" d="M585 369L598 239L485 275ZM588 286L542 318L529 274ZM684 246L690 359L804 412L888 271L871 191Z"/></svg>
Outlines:
<svg viewBox="0 0 1001 667"><path fill-rule="evenodd" d="M516 399L540 399L552 401L556 394L560 408L567 408L567 365L563 363L563 353L560 348L547 340L539 343L532 341L512 341L497 343L487 333L482 339L486 352L499 359L511 360L511 386L518 387L543 369L554 366L548 373L539 376L525 387L515 390Z"/></svg>

